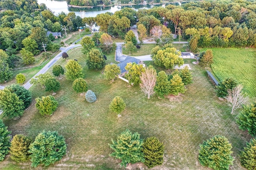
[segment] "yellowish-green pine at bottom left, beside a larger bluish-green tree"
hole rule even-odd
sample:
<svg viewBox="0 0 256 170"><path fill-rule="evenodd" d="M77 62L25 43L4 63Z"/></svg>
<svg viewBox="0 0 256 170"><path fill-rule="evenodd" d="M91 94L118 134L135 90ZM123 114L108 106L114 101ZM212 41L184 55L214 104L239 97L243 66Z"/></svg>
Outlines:
<svg viewBox="0 0 256 170"><path fill-rule="evenodd" d="M31 138L23 134L16 134L11 142L10 154L11 159L16 162L24 162L29 159L29 145L32 143Z"/></svg>

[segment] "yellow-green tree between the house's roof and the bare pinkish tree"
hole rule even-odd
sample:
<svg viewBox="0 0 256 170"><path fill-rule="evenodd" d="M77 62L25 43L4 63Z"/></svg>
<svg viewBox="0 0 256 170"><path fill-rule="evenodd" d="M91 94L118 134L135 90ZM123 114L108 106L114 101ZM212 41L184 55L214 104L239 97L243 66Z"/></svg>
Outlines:
<svg viewBox="0 0 256 170"><path fill-rule="evenodd" d="M142 64L127 63L124 68L128 71L128 73L125 74L125 77L128 79L130 85L141 83L140 76L146 71Z"/></svg>

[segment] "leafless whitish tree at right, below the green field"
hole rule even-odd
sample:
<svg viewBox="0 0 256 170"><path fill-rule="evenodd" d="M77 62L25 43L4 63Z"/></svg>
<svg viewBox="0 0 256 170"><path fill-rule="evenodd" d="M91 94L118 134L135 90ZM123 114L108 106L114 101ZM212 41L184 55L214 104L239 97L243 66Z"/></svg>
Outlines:
<svg viewBox="0 0 256 170"><path fill-rule="evenodd" d="M244 94L242 94L242 89L242 85L238 85L232 90L228 89L226 100L228 105L232 107L231 114L248 101L248 96L244 96Z"/></svg>

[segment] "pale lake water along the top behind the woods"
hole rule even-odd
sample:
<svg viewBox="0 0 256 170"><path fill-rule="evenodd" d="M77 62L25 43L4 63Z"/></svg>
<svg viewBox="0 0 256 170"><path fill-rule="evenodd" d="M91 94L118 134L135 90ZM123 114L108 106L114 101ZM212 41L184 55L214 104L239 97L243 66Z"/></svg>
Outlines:
<svg viewBox="0 0 256 170"><path fill-rule="evenodd" d="M102 14L105 12L116 12L121 10L122 8L129 7L133 8L134 10L138 9L149 9L153 6L149 4L145 5L133 5L133 6L111 6L111 7L93 7L93 8L68 8L66 1L55 1L55 0L37 0L38 4L44 3L46 4L47 8L50 8L55 15L58 15L60 12L65 12L68 14L69 12L75 12L76 16L80 16L81 18L84 17L95 17L98 14ZM178 5L178 4L176 4ZM162 6L162 5L157 5Z"/></svg>

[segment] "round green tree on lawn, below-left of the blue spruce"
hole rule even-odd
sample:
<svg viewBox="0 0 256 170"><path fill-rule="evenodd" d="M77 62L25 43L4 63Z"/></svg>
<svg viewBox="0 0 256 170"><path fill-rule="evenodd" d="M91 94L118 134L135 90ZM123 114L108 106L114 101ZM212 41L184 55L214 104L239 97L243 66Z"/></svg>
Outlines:
<svg viewBox="0 0 256 170"><path fill-rule="evenodd" d="M42 98L36 98L36 109L43 116L50 116L57 109L58 102L53 96L42 96Z"/></svg>

